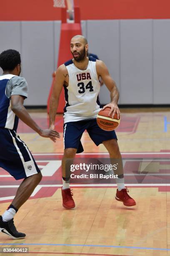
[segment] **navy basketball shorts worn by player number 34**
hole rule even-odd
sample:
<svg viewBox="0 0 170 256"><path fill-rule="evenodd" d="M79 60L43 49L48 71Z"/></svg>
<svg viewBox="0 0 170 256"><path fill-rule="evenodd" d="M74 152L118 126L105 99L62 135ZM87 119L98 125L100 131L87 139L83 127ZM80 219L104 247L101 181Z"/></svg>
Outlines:
<svg viewBox="0 0 170 256"><path fill-rule="evenodd" d="M64 148L77 148L77 153L84 151L80 139L85 130L87 130L87 133L96 146L99 146L103 141L117 140L115 131L102 130L97 125L96 119L68 122L63 127Z"/></svg>

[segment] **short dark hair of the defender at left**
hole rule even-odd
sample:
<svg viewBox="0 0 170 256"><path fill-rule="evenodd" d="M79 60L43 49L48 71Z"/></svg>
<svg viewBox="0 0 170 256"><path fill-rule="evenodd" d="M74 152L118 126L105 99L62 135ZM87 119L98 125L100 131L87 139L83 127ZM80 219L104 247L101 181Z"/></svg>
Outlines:
<svg viewBox="0 0 170 256"><path fill-rule="evenodd" d="M12 71L18 64L21 64L21 56L18 51L12 49L2 51L0 54L0 67L3 71Z"/></svg>

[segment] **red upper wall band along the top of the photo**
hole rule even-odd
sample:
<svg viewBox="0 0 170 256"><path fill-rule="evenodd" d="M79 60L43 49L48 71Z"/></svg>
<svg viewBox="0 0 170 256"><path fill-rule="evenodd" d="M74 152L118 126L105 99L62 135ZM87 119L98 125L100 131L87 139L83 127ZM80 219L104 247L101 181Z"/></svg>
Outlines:
<svg viewBox="0 0 170 256"><path fill-rule="evenodd" d="M170 0L75 0L82 20L170 18ZM0 20L60 20L53 0L0 0Z"/></svg>

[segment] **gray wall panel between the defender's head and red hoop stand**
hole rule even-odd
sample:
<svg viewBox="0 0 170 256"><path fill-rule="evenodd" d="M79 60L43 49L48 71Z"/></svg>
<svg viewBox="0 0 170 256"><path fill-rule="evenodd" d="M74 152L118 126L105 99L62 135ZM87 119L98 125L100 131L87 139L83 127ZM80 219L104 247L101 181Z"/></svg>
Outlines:
<svg viewBox="0 0 170 256"><path fill-rule="evenodd" d="M28 82L26 105L46 105L54 69L53 22L22 22L23 76Z"/></svg>

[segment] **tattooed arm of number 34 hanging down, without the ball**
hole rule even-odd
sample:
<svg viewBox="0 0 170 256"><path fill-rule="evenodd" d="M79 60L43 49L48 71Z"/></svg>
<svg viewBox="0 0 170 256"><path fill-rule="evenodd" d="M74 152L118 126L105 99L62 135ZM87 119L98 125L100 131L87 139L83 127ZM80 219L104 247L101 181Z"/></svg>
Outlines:
<svg viewBox="0 0 170 256"><path fill-rule="evenodd" d="M67 69L65 65L58 67L55 72L54 86L52 90L52 95L50 97L50 129L55 127L55 115L57 113L60 93L62 91L63 84L65 83L65 76L67 74Z"/></svg>

